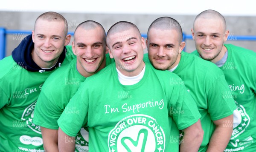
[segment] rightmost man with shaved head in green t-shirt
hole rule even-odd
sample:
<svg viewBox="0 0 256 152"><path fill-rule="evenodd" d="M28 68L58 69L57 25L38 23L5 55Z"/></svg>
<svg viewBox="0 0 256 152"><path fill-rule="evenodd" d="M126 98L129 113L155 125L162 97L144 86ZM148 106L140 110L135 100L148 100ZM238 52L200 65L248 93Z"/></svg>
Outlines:
<svg viewBox="0 0 256 152"><path fill-rule="evenodd" d="M256 53L226 42L229 31L224 17L206 10L195 18L192 36L196 54L215 63L225 75L229 96L236 103L233 133L225 152L254 152L256 149ZM217 145L216 145L217 146Z"/></svg>

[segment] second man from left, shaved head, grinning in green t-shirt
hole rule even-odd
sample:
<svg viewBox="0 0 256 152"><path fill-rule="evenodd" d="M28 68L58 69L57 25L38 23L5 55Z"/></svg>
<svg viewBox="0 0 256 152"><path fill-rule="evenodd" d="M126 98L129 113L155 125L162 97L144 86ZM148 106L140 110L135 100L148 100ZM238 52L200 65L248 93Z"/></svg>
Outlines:
<svg viewBox="0 0 256 152"><path fill-rule="evenodd" d="M33 123L41 126L45 150L58 152L57 120L81 83L114 62L106 54L105 46L106 33L101 24L93 20L80 23L72 42L76 58L68 66L53 72L45 81L33 119ZM87 150L88 132L86 127L82 127L76 136L76 151Z"/></svg>

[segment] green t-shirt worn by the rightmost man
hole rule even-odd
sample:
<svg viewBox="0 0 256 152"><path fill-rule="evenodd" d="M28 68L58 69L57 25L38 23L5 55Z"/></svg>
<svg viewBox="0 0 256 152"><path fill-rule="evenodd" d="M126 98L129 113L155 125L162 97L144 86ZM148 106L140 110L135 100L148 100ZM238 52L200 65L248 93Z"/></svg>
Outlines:
<svg viewBox="0 0 256 152"><path fill-rule="evenodd" d="M227 61L220 69L236 102L234 126L225 152L255 152L256 149L256 53L225 44ZM193 54L198 54L197 51Z"/></svg>

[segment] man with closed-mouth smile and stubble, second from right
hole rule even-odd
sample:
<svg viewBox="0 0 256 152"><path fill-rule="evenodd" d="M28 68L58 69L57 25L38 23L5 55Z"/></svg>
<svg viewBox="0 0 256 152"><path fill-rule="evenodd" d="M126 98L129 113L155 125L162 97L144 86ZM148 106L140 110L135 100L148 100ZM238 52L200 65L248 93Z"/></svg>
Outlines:
<svg viewBox="0 0 256 152"><path fill-rule="evenodd" d="M230 139L236 105L233 98L224 98L230 90L223 72L213 63L183 52L182 39L177 20L157 18L148 28L148 54L144 60L149 59L156 69L173 72L184 81L202 115L204 139L199 152L218 152L225 149Z"/></svg>

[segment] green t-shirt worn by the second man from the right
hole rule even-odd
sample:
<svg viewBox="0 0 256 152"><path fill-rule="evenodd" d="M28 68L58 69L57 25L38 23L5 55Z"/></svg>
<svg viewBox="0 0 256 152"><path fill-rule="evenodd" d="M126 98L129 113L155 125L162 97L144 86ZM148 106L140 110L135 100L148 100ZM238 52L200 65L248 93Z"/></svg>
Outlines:
<svg viewBox="0 0 256 152"><path fill-rule="evenodd" d="M144 55L144 60L150 62L148 54ZM226 96L231 92L225 76L214 63L186 52L181 52L180 62L173 73L183 80L198 106L204 130L199 152L205 152L215 130L213 121L232 115L236 109L233 97Z"/></svg>

